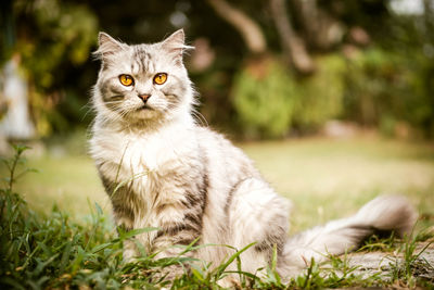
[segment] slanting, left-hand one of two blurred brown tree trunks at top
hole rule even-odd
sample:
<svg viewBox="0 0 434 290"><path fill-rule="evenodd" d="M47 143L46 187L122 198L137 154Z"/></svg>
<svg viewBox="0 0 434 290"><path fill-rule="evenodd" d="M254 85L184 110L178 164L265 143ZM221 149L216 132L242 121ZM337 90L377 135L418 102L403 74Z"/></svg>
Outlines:
<svg viewBox="0 0 434 290"><path fill-rule="evenodd" d="M207 0L207 2L221 18L235 27L243 37L247 49L252 53L260 54L266 52L267 42L264 34L259 25L257 25L251 17L241 10L231 7L225 0Z"/></svg>

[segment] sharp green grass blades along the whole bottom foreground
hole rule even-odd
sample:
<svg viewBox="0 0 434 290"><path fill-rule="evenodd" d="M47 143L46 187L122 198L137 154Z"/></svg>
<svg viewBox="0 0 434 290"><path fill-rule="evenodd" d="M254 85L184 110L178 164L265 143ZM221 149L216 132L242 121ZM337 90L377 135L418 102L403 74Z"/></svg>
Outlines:
<svg viewBox="0 0 434 290"><path fill-rule="evenodd" d="M392 280L380 276L356 274L357 266L348 265L348 256L330 256L330 262L318 264L314 260L302 275L284 280L276 268L278 252L275 247L271 263L259 274L242 270L241 254L254 243L237 250L229 245L190 245L183 248L180 255L155 259L156 253L146 253L141 249L141 256L132 263L123 262L122 247L126 239L136 235L155 230L155 228L115 230L102 209L95 203L90 219L77 223L68 215L53 209L44 216L33 212L26 202L14 192L14 182L20 180L24 164L22 154L26 147L15 146L15 155L3 160L9 168L9 177L0 189L0 287L3 289L221 289L219 282L232 275L239 279L238 289L318 289L343 287L381 287L399 282L408 287L426 286L430 282L414 278L417 270L430 265L420 260L423 249L417 249L414 237L401 245L404 264L393 266ZM18 173L21 172L21 173ZM393 238L384 240L390 244ZM373 239L375 247L381 240ZM209 265L202 261L184 257L182 254L202 247L229 247L233 254L220 265ZM388 247L388 245L387 245ZM369 248L372 249L372 248ZM230 264L235 270L229 270ZM165 280L167 270L173 265L190 265L190 270L173 281Z"/></svg>

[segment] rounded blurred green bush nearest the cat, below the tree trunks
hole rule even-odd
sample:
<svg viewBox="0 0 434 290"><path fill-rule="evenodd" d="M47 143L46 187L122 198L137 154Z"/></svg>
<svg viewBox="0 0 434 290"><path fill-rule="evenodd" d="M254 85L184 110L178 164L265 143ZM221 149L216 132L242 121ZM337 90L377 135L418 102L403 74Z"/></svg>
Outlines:
<svg viewBox="0 0 434 290"><path fill-rule="evenodd" d="M264 71L264 72L258 72ZM295 108L293 79L275 61L254 63L238 73L232 99L245 134L282 137Z"/></svg>

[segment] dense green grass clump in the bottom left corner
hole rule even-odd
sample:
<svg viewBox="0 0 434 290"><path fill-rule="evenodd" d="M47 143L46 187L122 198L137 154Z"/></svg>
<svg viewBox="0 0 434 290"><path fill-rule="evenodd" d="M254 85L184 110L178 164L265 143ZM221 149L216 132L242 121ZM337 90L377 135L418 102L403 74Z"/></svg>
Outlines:
<svg viewBox="0 0 434 290"><path fill-rule="evenodd" d="M10 176L15 176L25 150L25 147L15 147L16 154L9 162L14 165L10 167ZM10 180L16 181L16 177ZM41 289L74 285L87 269L92 269L98 277L94 285L98 285L99 278L116 268L120 261L120 243L112 241L111 251L99 248L111 236L103 227L101 213L92 216L92 226L71 223L68 216L56 209L49 217L40 216L13 192L11 181L0 189L0 283L3 287Z"/></svg>

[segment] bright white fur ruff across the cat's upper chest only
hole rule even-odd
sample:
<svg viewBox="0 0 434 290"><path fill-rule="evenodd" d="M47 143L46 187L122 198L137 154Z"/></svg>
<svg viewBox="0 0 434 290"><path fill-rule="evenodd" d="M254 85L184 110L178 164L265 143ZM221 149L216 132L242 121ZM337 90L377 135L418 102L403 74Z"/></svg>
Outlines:
<svg viewBox="0 0 434 290"><path fill-rule="evenodd" d="M100 129L91 140L91 154L112 181L141 179L161 175L194 154L194 134L186 126L167 126L151 134ZM139 192L140 190L138 190Z"/></svg>

